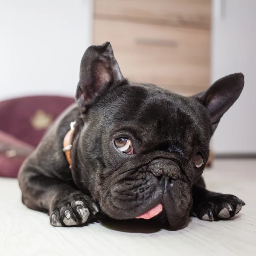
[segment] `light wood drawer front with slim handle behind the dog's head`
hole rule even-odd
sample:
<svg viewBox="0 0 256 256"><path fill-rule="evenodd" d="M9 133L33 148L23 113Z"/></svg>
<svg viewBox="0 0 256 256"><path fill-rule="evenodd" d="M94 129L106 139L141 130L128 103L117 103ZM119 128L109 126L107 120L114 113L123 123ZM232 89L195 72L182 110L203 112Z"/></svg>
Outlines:
<svg viewBox="0 0 256 256"><path fill-rule="evenodd" d="M94 20L94 43L110 41L122 73L182 94L209 86L210 32Z"/></svg>

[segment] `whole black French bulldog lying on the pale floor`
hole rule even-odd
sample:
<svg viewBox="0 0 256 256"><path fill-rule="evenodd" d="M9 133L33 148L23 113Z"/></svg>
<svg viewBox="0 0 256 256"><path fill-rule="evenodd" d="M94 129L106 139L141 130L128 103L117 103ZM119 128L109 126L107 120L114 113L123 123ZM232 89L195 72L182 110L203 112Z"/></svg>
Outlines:
<svg viewBox="0 0 256 256"><path fill-rule="evenodd" d="M203 93L180 96L125 79L108 42L89 47L77 105L20 169L23 203L47 212L54 226L84 224L99 211L113 219L153 218L173 229L186 225L189 214L233 217L244 202L207 191L201 174L210 138L243 86L236 73ZM71 167L63 141L73 121Z"/></svg>

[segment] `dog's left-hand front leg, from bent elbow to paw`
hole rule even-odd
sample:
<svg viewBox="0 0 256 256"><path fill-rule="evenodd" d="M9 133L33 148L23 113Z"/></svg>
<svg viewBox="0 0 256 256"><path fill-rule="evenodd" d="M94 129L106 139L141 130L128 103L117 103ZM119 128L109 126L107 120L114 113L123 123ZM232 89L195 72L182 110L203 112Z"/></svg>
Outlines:
<svg viewBox="0 0 256 256"><path fill-rule="evenodd" d="M86 223L99 209L92 198L75 186L26 167L19 174L22 201L27 207L50 216L53 226L76 226Z"/></svg>

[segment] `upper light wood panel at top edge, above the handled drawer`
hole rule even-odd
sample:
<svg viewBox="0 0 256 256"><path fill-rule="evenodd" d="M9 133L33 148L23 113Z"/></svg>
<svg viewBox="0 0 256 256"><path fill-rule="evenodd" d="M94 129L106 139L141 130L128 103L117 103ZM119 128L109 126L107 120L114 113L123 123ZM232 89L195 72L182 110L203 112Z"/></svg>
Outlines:
<svg viewBox="0 0 256 256"><path fill-rule="evenodd" d="M94 0L97 19L210 29L211 0Z"/></svg>

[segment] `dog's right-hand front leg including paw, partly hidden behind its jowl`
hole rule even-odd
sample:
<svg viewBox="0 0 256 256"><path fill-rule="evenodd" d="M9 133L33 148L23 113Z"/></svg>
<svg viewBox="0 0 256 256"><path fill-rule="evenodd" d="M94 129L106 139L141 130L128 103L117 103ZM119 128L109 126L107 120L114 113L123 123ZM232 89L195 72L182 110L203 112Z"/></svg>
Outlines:
<svg viewBox="0 0 256 256"><path fill-rule="evenodd" d="M192 197L191 214L205 221L231 218L245 205L244 201L234 195L208 191L202 177L193 185Z"/></svg>

